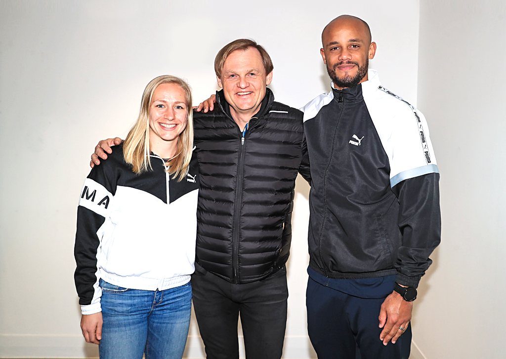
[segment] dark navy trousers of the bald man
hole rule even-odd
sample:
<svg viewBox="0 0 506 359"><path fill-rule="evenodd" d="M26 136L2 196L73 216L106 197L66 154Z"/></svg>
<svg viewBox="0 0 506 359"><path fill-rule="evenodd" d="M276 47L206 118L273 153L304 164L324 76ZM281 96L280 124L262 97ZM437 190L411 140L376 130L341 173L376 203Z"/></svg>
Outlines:
<svg viewBox="0 0 506 359"><path fill-rule="evenodd" d="M318 359L408 359L411 325L395 344L379 340L385 298L364 299L308 280L308 333Z"/></svg>

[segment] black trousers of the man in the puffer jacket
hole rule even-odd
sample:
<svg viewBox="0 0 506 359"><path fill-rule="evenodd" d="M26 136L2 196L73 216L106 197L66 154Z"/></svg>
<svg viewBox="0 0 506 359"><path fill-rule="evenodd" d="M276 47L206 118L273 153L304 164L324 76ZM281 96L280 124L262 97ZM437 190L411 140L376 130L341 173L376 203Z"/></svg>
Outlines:
<svg viewBox="0 0 506 359"><path fill-rule="evenodd" d="M196 264L197 266L197 264ZM232 284L196 268L193 307L208 359L237 359L241 316L247 359L279 359L286 329L286 270L247 284Z"/></svg>

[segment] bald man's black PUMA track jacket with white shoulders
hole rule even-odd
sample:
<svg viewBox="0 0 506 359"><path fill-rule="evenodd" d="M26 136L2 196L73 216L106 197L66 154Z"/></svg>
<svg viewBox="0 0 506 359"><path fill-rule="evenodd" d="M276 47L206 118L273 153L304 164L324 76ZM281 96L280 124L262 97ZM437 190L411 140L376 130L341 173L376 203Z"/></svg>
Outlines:
<svg viewBox="0 0 506 359"><path fill-rule="evenodd" d="M368 78L304 107L310 266L416 287L441 237L439 170L424 115Z"/></svg>

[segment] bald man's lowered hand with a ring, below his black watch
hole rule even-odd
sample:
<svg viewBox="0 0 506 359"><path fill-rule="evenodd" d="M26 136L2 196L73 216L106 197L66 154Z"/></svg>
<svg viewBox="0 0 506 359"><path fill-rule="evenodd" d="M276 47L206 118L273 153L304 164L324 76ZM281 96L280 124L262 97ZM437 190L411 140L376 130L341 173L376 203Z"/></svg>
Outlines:
<svg viewBox="0 0 506 359"><path fill-rule="evenodd" d="M387 345L390 340L392 340L392 344L395 344L407 329L412 311L413 302L405 301L395 291L385 299L378 317L379 328L383 328L379 339L383 341L384 345Z"/></svg>

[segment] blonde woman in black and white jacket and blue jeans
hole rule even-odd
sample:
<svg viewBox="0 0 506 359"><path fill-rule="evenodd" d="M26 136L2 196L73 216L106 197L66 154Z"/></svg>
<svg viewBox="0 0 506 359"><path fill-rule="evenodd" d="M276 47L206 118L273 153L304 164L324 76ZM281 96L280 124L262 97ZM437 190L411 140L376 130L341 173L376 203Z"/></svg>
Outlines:
<svg viewBox="0 0 506 359"><path fill-rule="evenodd" d="M81 191L74 277L100 357L183 355L199 186L191 106L180 78L151 80L137 123Z"/></svg>

